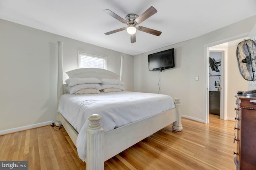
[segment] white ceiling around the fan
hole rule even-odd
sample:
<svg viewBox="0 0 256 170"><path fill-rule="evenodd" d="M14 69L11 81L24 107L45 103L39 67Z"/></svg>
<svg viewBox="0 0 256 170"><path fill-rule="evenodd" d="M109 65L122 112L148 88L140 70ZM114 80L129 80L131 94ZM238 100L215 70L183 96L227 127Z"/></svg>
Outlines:
<svg viewBox="0 0 256 170"><path fill-rule="evenodd" d="M157 37L142 31L136 43L121 31L126 27L103 10L125 19L140 16L150 6L158 12L140 23L162 31ZM137 55L198 37L256 15L256 0L0 0L0 18L122 53Z"/></svg>

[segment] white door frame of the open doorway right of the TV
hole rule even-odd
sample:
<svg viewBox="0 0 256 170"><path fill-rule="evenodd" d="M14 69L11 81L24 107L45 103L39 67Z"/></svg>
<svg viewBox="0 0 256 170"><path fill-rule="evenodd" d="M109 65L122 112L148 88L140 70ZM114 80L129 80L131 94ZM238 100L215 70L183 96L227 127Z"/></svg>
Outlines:
<svg viewBox="0 0 256 170"><path fill-rule="evenodd" d="M234 41L236 39L240 39L243 37L247 37L248 33L243 33L240 35L236 35L234 37L230 37L227 39L223 39L220 41L216 41L213 43L209 43L204 45L204 123L208 124L209 123L209 54L210 54L210 47L223 44L229 41ZM222 75L221 76L221 86L222 86L222 93L221 93L221 103L220 103L220 118L226 120L227 119L227 78L228 78L228 73L227 73L227 56L228 56L228 51L227 49L222 49L224 50L224 56L222 56L224 59L222 60Z"/></svg>

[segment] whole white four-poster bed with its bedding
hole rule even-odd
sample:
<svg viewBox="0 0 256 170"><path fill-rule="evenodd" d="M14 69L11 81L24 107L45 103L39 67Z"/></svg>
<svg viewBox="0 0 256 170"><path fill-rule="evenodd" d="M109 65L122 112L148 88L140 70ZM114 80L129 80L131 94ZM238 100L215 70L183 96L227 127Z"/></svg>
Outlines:
<svg viewBox="0 0 256 170"><path fill-rule="evenodd" d="M172 100L170 96L162 94L126 92L122 89L122 57L120 76L99 68L80 68L66 72L70 81L90 80L92 84L89 84L89 88L95 88L96 91L99 86L94 82L95 79L100 80L99 88L104 86L102 83L105 80L114 80L112 84L119 86L106 88L110 90L108 92L72 94L70 91L70 94L65 94L66 86L74 86L70 86L70 82L68 85L63 84L62 48L63 43L58 41L57 119L76 145L79 157L86 162L87 170L103 170L104 161L172 123L173 130L182 131L179 99ZM111 82L108 81L108 85ZM85 85L88 86L88 82Z"/></svg>

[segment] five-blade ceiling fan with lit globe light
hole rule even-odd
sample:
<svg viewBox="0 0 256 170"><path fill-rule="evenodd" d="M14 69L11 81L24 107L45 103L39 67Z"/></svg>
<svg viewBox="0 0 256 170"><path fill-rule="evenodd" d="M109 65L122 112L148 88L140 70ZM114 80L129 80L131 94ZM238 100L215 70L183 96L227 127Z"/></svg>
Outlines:
<svg viewBox="0 0 256 170"><path fill-rule="evenodd" d="M142 23L146 19L150 18L152 15L156 14L157 10L153 6L150 6L150 8L148 8L140 16L138 16L136 14L128 14L125 17L125 20L123 18L121 18L120 16L118 16L117 14L115 14L114 12L108 10L108 9L104 10L104 12L106 12L110 16L116 18L117 20L121 21L122 23L125 23L125 24L128 25L127 27L119 28L119 29L104 33L106 35L110 35L112 33L116 33L116 32L123 31L123 30L126 29L127 33L131 35L131 43L135 43L136 42L135 33L136 33L137 30L143 31L143 32L146 32L146 33L150 33L150 34L156 35L156 36L159 36L162 33L161 31L157 31L157 30L150 29L150 28L147 28L147 27L142 27L142 26L136 27L136 25Z"/></svg>

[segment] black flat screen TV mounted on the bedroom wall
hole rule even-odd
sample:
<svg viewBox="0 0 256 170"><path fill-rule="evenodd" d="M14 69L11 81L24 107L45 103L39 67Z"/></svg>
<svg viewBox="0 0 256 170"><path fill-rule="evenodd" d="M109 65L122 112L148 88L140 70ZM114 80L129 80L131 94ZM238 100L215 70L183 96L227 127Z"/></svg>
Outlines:
<svg viewBox="0 0 256 170"><path fill-rule="evenodd" d="M148 55L148 70L164 70L175 67L174 49Z"/></svg>

